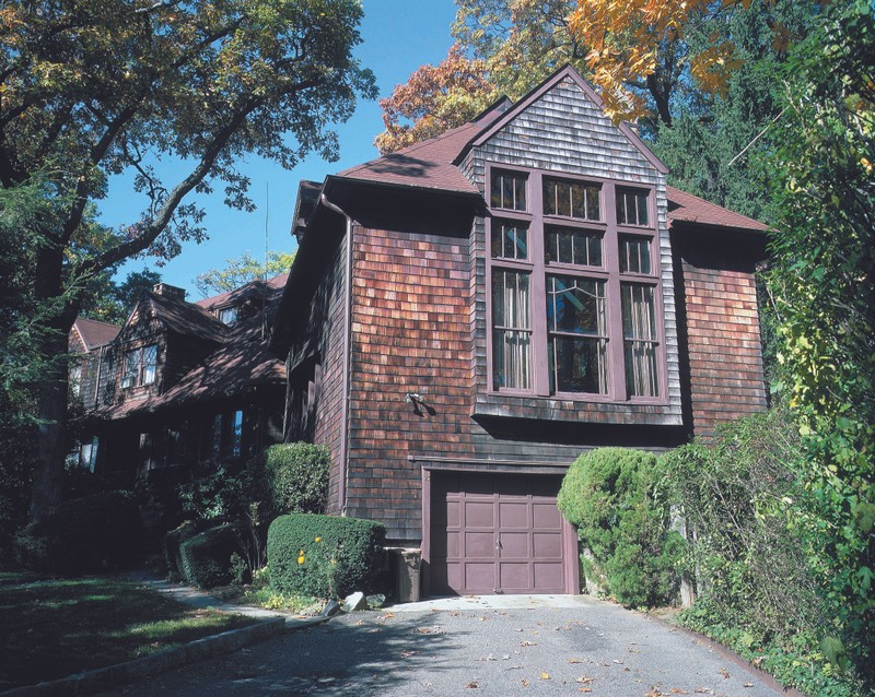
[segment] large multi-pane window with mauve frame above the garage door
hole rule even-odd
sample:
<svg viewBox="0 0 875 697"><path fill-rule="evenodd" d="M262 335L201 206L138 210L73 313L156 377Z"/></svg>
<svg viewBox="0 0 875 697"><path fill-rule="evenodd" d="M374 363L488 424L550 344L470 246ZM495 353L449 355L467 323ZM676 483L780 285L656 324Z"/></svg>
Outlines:
<svg viewBox="0 0 875 697"><path fill-rule="evenodd" d="M514 182L542 206L509 204ZM490 220L493 390L658 398L652 190L505 169L490 172L489 190L503 210Z"/></svg>

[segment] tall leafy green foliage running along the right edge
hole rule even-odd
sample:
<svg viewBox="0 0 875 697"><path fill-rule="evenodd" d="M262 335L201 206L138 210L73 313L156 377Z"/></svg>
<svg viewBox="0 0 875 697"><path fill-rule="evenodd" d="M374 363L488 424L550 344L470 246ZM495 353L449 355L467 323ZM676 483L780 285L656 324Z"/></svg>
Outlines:
<svg viewBox="0 0 875 697"><path fill-rule="evenodd" d="M781 75L770 281L806 459L810 536L842 651L875 689L875 19L835 5ZM843 640L839 643L838 640Z"/></svg>

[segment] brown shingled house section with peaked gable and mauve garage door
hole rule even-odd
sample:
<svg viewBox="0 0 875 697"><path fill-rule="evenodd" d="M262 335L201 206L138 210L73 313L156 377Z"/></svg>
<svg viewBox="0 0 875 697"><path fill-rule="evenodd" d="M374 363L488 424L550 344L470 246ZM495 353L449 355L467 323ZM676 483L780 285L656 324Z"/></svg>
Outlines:
<svg viewBox="0 0 875 697"><path fill-rule="evenodd" d="M302 182L272 345L329 512L419 547L425 593L578 592L569 464L766 405L765 226L666 167L564 68L439 138Z"/></svg>

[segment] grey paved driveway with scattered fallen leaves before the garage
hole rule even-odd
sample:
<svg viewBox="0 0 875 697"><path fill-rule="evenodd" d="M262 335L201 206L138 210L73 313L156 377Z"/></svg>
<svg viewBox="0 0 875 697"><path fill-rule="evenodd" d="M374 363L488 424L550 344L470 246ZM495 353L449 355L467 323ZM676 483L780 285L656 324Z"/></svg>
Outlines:
<svg viewBox="0 0 875 697"><path fill-rule="evenodd" d="M585 596L458 599L335 617L110 695L775 697L747 669Z"/></svg>

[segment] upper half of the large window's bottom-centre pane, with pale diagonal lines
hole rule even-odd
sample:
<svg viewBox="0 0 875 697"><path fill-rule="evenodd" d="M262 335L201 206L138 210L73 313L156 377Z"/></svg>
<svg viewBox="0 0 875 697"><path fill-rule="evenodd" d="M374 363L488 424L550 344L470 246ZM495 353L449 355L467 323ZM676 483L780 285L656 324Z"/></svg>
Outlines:
<svg viewBox="0 0 875 697"><path fill-rule="evenodd" d="M547 329L606 336L605 282L547 276Z"/></svg>

